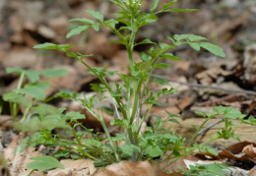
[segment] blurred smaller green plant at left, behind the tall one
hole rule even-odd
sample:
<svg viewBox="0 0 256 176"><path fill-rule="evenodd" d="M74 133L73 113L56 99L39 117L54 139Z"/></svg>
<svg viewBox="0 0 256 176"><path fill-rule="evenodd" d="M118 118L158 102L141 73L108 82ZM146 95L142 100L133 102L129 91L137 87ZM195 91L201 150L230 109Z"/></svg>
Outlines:
<svg viewBox="0 0 256 176"><path fill-rule="evenodd" d="M50 87L48 79L54 77L62 77L68 72L64 69L48 69L40 72L32 70L23 70L16 68L6 68L6 73L17 73L20 75L20 80L17 88L3 95L3 100L10 103L10 111L13 120L16 121L20 106L25 107L25 113L22 118L22 122L26 120L30 109L38 104L45 103L52 99L49 97L46 99L45 90ZM44 82L39 82L40 77L46 78ZM27 83L23 87L25 78L28 79ZM25 96L27 95L27 96Z"/></svg>

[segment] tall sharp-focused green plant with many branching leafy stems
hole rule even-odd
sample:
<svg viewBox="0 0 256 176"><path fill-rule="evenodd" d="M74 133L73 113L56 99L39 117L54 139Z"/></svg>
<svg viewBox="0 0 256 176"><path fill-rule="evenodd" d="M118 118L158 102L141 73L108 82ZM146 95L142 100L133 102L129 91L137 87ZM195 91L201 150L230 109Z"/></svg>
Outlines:
<svg viewBox="0 0 256 176"><path fill-rule="evenodd" d="M83 106L100 122L106 138L102 138L100 134L93 132L92 129L88 129L79 122L80 119L86 118L84 115L79 114L78 112L69 112L65 114L63 113L65 110L64 108L56 109L51 107L45 109L45 104L40 104L32 109L33 113L39 118L34 117L33 121L30 122L30 126L32 124L38 124L38 121L42 125L39 126L39 129L36 129L37 132L24 140L24 145L30 145L32 147L39 144L49 147L62 146L65 149L59 149L55 152L55 157L91 158L96 161L96 166L104 166L121 160L130 160L133 162L138 160L153 160L158 163L168 161L168 163L163 167L164 169L181 156L187 154L206 151L217 155L218 152L215 149L207 146L215 140L222 138L239 139L239 137L234 135L232 131L232 127L234 125L231 120L240 119L239 123L245 122L242 120L244 115L234 108L223 106L214 108L215 113L204 114L197 112L206 118L205 123L219 115L224 115L225 117L223 120L225 125L224 129L220 129L220 132L216 134L216 137L213 137L212 140L204 144L194 144L194 140L199 131L204 128L205 123L197 129L197 132L193 135L192 140L186 147L186 139L178 136L175 132L168 132L162 127L163 123L166 121L178 123L178 121L174 119L177 116L169 112L166 112L168 114L168 118L162 119L161 117L158 117L157 122L153 123L152 127L147 127L144 131L142 130L143 122L149 113L150 108L153 105L160 105L158 98L176 91L176 88L171 88L165 80L153 77L154 69L165 69L169 67L169 65L161 62L163 59L179 60L173 54L168 53L170 48L175 48L181 44L188 44L195 50L200 50L202 47L220 57L224 57L224 52L221 47L210 42L205 42L207 38L194 34L175 34L173 37L167 36L171 44L158 44L150 39L145 39L139 43L135 42L138 29L158 21L158 14L165 12L196 11L194 9L170 9L170 6L177 2L177 0L164 4L160 10L157 10L159 8L159 0L155 0L149 13L140 10L143 0L110 1L121 9L120 12L116 13L116 15L119 16L118 18L105 21L99 12L88 10L86 12L95 18L96 21L86 18L71 20L71 22L80 22L84 25L76 29L72 29L67 34L67 37L69 38L75 34L80 34L82 31L87 29L95 29L96 31L100 27L111 29L114 34L120 37L120 40L114 40L111 41L111 43L123 44L127 49L130 63L128 67L128 75L106 71L105 67L90 67L83 58L91 55L83 55L78 52L69 51L73 46L68 44L44 43L33 47L35 49L53 49L63 51L68 57L73 57L79 60L90 69L90 73L92 75L97 77L101 84L92 85L92 89L96 91L94 96L87 97L85 95L84 97L80 97L78 93L67 90L62 90L58 95L61 97L75 99L82 103ZM116 24L122 24L123 27L117 29ZM135 62L133 60L134 47L140 44L152 44L154 46L145 52L141 52L141 61ZM106 81L106 77L113 76L114 74L121 78L123 85L118 83L108 83ZM159 92L153 92L148 88L148 85L153 82L168 86L169 88L162 88ZM101 101L105 98L102 94L106 92L109 93L113 100L114 111L117 116L110 125L119 126L121 128L121 132L123 132L121 134L116 134L115 136L110 135L106 124L103 121L102 112L105 108L102 107ZM11 98L5 99L11 101ZM19 104L20 102L15 101L15 103ZM99 113L96 113L94 108L96 103L99 106ZM141 114L142 106L147 106L147 110L144 114ZM51 133L51 130L56 128L54 126L48 126L52 120L65 123L65 125L63 125L63 134L53 135ZM246 123L251 124L252 119L246 121ZM21 126L21 130L28 130L26 128L27 126L28 125L24 122ZM83 131L78 132L76 130L78 126L82 127ZM75 140L71 140L70 135L72 135ZM83 138L85 136L87 136L86 139ZM125 142L125 145L119 147L119 142ZM165 151L167 150L171 151L170 154L165 154ZM159 159L161 156L164 156L164 158Z"/></svg>

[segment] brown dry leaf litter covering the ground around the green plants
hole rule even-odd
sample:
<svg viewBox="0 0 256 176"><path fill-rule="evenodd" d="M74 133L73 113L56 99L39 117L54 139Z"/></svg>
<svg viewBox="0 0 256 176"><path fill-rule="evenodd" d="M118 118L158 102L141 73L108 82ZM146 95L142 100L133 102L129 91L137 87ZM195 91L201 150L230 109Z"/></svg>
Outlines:
<svg viewBox="0 0 256 176"><path fill-rule="evenodd" d="M98 1L81 2L77 0L69 0L63 1L63 3L57 1L43 3L37 1L30 2L30 0L24 2L4 0L2 2L0 8L6 8L7 10L4 12L6 13L4 14L6 19L1 18L4 23L0 24L0 33L2 36L0 44L1 46L4 46L2 47L3 49L0 49L0 68L18 67L23 69L43 70L59 65L61 68L68 68L71 72L66 78L53 80L53 86L56 88L62 87L78 91L89 90L89 84L96 82L95 78L89 77L89 75L85 74L86 71L83 72L82 69L74 69L80 67L74 61L55 58L56 56L54 56L53 53L49 53L46 56L45 53L35 54L31 48L34 44L43 41L53 40L59 43L65 42L65 35L68 31L65 27L67 25L67 20L70 19L71 16L83 17L83 12L89 9L98 9L102 12L104 11L106 16L110 16L107 13L108 11L105 11L104 8L114 9L107 3L103 4ZM171 26L166 26L169 21L168 16L160 17L160 23L157 26L140 31L140 36L138 36L138 40L143 40L145 36L150 35L152 36L152 40L164 42L165 38L162 37L162 33L183 33L189 29L189 31L193 33L200 32L209 38L215 38L224 46L224 50L227 51L226 58L220 60L216 57L209 57L208 54L204 52L200 55L196 55L194 51L191 51L188 48L178 48L173 52L183 59L182 62L184 62L184 64L171 62L170 64L173 65L172 69L165 73L155 73L157 76L177 81L177 83L170 81L169 84L179 88L179 91L170 97L161 99L162 102L165 102L163 103L164 107L154 106L151 113L159 114L163 117L166 115L164 114L164 110L168 110L173 114L181 114L182 119L180 123L182 124L182 127L175 127L175 124L173 125L172 123L169 125L169 129L171 131L176 131L177 133L183 133L184 136L193 131L193 128L189 127L187 124L193 124L193 122L198 122L200 120L198 117L195 118L193 112L195 110L209 112L209 106L231 105L237 107L248 116L253 115L254 118L256 116L256 79L254 76L256 52L255 43L253 42L256 38L255 35L252 35L253 32L251 32L252 29L256 27L256 22L253 18L255 15L254 9L256 8L256 4L254 1L248 1L246 3L251 3L250 6L248 6L248 4L243 4L242 2L236 2L236 6L232 6L230 3L228 4L226 2L227 1L220 2L218 4L211 0L205 3L197 1L190 3L187 1L180 1L178 7L191 8L192 6L192 8L199 8L202 10L194 13L195 15L192 17L182 13L180 15L178 13L172 15L171 18L173 19L173 24ZM218 8L218 5L223 5L228 11L222 11ZM241 13L241 10L246 6L249 7L248 12ZM147 8L147 6L145 6L145 8ZM12 9L15 11L10 11ZM67 13L65 13L63 9L65 9ZM216 16L214 14L216 14ZM45 15L47 17L45 17ZM42 18L43 16L44 18ZM180 19L182 19L182 21ZM217 20L215 21L213 19ZM180 28L181 22L182 24L186 24L184 29ZM153 28L155 29L153 30ZM83 38L84 43L76 43L75 45L83 52L93 52L95 54L90 61L93 65L109 66L109 71L116 70L117 68L117 70L125 72L126 64L122 62L122 60L125 60L125 56L122 55L122 48L118 44L107 44L110 40L109 38L111 38L109 30L101 31L100 34L94 32L85 33ZM75 42L75 40L73 42ZM83 47L83 45L87 45L87 47ZM143 47L138 48L138 50L144 49ZM167 62L167 64L169 63ZM18 77L11 77L2 71L0 72L1 88L3 88L3 92L6 92L6 89L9 89L8 87L16 81L14 78ZM118 82L116 78L111 79L109 79L109 81ZM194 85L190 85L191 83ZM198 85L206 87L200 88L197 87ZM232 91L220 90L216 87L236 89L239 93L235 95ZM152 85L152 88L156 90L158 89L154 85ZM52 94L54 91L54 89L49 89L47 95ZM1 96L3 92L1 90ZM69 101L57 102L55 105L59 106L61 103L65 103L67 107L70 106ZM108 103L110 104L111 102L109 101ZM4 107L7 107L7 105ZM8 114L8 109L4 108L2 113ZM106 120L113 118L107 115L106 117ZM154 121L153 116L150 116L147 119ZM7 133L9 129L12 129L7 121L8 117L1 116L0 130L3 133ZM186 121L189 122L186 123ZM218 121L218 119L214 121ZM214 121L209 125L215 123ZM147 123L148 122L149 121L147 121ZM86 122L86 124L90 123L95 124L94 119L91 122ZM94 128L98 128L98 125ZM252 169L246 174L252 176L255 174L256 141L251 137L255 136L255 128L245 125L241 128L237 127L235 131L244 141L248 142L220 142L217 145L223 148L223 150L219 152L219 158L215 159L220 160L222 158L222 160L229 160L229 163L231 162L232 165L237 165L241 168L243 165L250 163L251 167L246 169ZM198 137L198 139L204 142L204 138L209 138L209 134L211 133L215 133L215 128L209 129L208 132ZM7 166L11 173L19 172L20 174L26 175L25 173L28 174L30 171L26 170L27 168L25 165L32 161L32 156L38 156L41 155L41 153L34 148L29 147L21 154L13 155L15 153L15 147L19 146L19 142L17 141L19 138L22 138L22 136L14 136L11 144L8 144L7 141L4 141L3 143L2 140L1 142L4 147L3 153L4 157L9 160ZM187 136L187 138L189 138L189 136ZM1 139L3 139L2 136ZM205 156L206 155L209 156L209 154L205 154ZM188 159L191 158L188 156L182 158L181 161L184 162ZM242 161L246 161L246 163L238 164ZM208 163L209 161L204 160L204 162ZM65 167L64 170L54 169L49 171L46 175L92 175L96 171L92 161L87 159L62 160L61 163ZM184 163L181 164L178 161L175 164L184 165ZM147 173L149 173L148 175L165 174L160 171L159 166L151 164L148 161L140 163L120 162L109 165L105 168L106 170L100 170L96 172L96 174L100 174L100 172L117 174L120 173L123 167L125 167L123 172L128 172L128 175L131 175L131 172L146 175ZM3 166L1 168L1 170L5 171L3 173L8 175L8 168ZM178 166L173 166L172 169L175 170L177 168ZM32 175L45 175L45 173L34 172Z"/></svg>

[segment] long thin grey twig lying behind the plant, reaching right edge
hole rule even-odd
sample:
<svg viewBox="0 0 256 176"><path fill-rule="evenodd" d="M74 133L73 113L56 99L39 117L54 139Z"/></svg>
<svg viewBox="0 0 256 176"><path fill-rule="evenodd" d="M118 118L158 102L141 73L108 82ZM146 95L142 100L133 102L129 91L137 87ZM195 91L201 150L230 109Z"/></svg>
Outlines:
<svg viewBox="0 0 256 176"><path fill-rule="evenodd" d="M169 82L173 82L173 83L177 83L179 85L186 85L188 87L196 87L196 88L214 88L214 89L221 89L224 91L232 91L232 92L242 92L242 93L246 93L246 94L253 94L256 95L256 91L253 90L243 90L243 89L230 89L230 88L221 88L221 87L213 87L213 86L206 86L206 85L200 85L200 84L189 84L189 83L184 83L184 82L179 82L177 80L174 79L170 79L170 78L166 78L166 77L162 77L156 74L153 74L154 77L156 78L160 78Z"/></svg>

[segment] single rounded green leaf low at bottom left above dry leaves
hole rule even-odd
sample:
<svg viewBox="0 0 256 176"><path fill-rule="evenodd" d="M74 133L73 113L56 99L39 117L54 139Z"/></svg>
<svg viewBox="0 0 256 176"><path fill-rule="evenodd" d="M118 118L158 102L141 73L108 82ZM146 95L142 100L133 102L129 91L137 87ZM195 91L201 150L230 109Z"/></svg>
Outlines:
<svg viewBox="0 0 256 176"><path fill-rule="evenodd" d="M56 158L52 156L35 156L35 157L32 157L32 160L35 160L35 161L27 164L27 167L29 169L40 170L40 171L54 169L54 168L64 169L63 165Z"/></svg>

